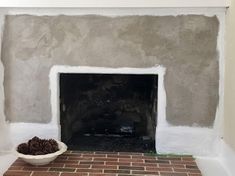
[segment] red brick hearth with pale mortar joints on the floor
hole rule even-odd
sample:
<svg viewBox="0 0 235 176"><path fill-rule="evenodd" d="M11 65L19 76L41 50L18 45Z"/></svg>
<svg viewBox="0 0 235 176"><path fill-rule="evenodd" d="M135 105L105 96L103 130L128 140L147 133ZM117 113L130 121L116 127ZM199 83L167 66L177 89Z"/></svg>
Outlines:
<svg viewBox="0 0 235 176"><path fill-rule="evenodd" d="M192 156L68 151L46 166L17 159L4 176L201 176Z"/></svg>

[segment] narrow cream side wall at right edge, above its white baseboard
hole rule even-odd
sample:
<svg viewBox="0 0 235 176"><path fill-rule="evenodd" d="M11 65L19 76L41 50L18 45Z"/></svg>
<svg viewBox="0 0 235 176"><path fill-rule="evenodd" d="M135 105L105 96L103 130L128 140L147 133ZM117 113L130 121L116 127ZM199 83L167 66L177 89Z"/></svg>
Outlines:
<svg viewBox="0 0 235 176"><path fill-rule="evenodd" d="M224 139L235 151L235 0L226 16Z"/></svg>

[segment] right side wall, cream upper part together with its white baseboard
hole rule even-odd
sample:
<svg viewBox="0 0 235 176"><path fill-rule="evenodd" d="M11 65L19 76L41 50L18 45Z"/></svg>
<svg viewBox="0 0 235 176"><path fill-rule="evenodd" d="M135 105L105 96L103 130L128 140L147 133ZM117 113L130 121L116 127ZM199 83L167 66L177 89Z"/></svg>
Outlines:
<svg viewBox="0 0 235 176"><path fill-rule="evenodd" d="M225 96L224 96L224 141L220 161L229 176L235 175L235 0L226 15L225 37Z"/></svg>

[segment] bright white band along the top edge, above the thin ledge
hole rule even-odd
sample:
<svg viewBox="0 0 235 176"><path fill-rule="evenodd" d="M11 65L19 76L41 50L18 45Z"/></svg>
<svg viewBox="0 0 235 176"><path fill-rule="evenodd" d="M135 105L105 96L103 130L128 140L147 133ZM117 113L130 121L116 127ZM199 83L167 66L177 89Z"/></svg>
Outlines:
<svg viewBox="0 0 235 176"><path fill-rule="evenodd" d="M229 0L1 0L0 7L226 7Z"/></svg>

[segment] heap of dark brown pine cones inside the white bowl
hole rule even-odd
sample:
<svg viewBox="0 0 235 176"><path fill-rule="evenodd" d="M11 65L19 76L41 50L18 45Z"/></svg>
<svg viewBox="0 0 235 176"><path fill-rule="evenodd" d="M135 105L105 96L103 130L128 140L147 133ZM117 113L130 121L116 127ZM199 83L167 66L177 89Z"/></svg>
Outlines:
<svg viewBox="0 0 235 176"><path fill-rule="evenodd" d="M36 136L17 147L17 151L25 155L44 155L58 150L58 143L54 139L40 139Z"/></svg>

